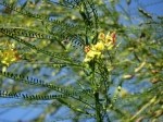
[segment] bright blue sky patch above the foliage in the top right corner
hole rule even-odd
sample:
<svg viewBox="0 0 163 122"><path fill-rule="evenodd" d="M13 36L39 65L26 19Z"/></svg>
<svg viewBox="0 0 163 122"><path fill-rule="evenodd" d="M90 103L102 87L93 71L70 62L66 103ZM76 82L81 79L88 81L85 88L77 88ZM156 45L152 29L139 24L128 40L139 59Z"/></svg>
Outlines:
<svg viewBox="0 0 163 122"><path fill-rule="evenodd" d="M121 4L117 5L117 10L123 13L121 21L125 25L140 24L143 22L138 8L143 9L143 11L151 14L154 19L158 15L163 16L163 0L131 0L129 5L126 3L126 0L121 1ZM131 22L125 17L126 13L130 15L129 19L131 19Z"/></svg>

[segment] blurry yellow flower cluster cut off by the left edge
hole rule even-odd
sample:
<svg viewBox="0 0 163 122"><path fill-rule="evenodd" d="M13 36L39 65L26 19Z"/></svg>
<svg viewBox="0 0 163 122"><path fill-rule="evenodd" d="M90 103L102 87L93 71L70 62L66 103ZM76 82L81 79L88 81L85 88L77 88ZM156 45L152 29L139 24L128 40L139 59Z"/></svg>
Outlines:
<svg viewBox="0 0 163 122"><path fill-rule="evenodd" d="M0 51L0 60L1 60L1 63L9 66L11 63L20 60L20 56L16 50L8 49L4 51Z"/></svg>

